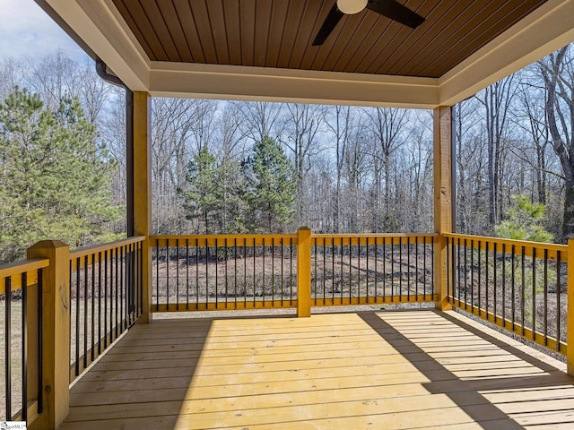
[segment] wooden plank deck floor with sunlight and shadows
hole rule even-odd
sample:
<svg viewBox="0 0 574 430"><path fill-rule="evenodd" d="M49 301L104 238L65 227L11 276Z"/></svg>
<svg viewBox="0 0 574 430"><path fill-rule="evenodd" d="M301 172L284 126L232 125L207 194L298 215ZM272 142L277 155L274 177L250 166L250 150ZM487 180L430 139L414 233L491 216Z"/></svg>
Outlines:
<svg viewBox="0 0 574 430"><path fill-rule="evenodd" d="M571 429L564 368L455 313L162 320L74 385L60 428Z"/></svg>

